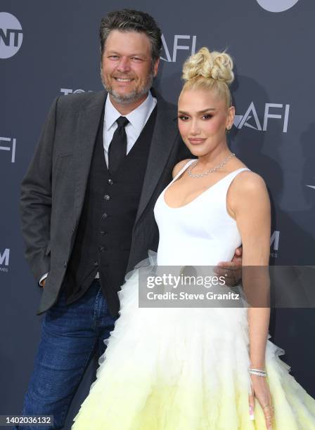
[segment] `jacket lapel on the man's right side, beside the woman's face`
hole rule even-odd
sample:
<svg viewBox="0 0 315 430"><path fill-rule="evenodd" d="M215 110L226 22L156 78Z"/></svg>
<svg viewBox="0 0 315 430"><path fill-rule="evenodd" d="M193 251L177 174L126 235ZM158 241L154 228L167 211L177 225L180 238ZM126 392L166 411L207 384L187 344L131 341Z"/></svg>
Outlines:
<svg viewBox="0 0 315 430"><path fill-rule="evenodd" d="M156 97L158 110L135 223L146 209L155 187L158 185L162 171L167 164L169 153L179 133L174 106L166 103L158 94Z"/></svg>

